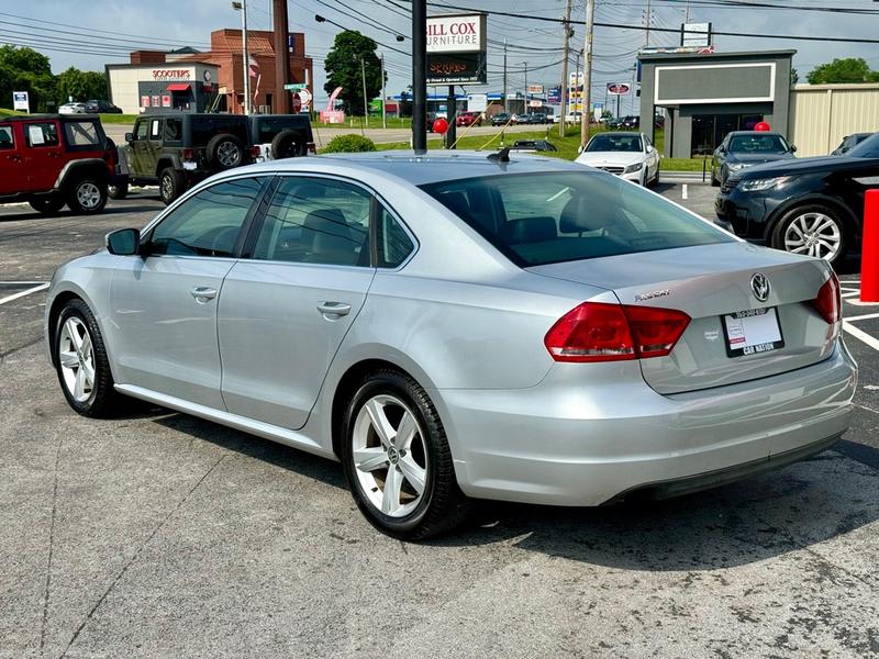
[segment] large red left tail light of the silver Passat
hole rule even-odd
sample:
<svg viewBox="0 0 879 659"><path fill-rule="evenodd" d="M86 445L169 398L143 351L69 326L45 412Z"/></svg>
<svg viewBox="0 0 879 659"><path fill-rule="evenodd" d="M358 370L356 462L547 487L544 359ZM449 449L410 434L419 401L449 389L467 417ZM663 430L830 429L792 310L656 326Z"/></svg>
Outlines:
<svg viewBox="0 0 879 659"><path fill-rule="evenodd" d="M689 315L674 309L583 302L552 326L544 344L556 361L664 357L689 323Z"/></svg>

